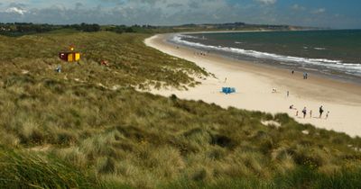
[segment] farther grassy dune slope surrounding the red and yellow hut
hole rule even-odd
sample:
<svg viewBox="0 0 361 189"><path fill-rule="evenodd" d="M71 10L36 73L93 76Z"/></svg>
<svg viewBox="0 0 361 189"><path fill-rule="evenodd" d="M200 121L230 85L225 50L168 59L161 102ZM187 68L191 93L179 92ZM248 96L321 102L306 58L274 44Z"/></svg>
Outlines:
<svg viewBox="0 0 361 189"><path fill-rule="evenodd" d="M148 35L119 35L106 31L52 31L19 38L0 36L2 76L25 70L37 78L66 77L110 88L115 85L143 88L148 84L174 87L197 85L198 82L188 74L207 75L193 63L144 47L143 39L146 37ZM81 52L79 65L64 63L58 58L58 53L67 51L70 45ZM101 66L102 60L108 61L109 67ZM53 72L57 65L63 67L64 74L58 76Z"/></svg>

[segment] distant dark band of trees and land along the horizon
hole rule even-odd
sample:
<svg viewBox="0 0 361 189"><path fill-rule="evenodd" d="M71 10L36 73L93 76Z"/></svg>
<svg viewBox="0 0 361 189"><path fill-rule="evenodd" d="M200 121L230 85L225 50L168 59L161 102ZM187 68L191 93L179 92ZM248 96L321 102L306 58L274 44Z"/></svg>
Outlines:
<svg viewBox="0 0 361 189"><path fill-rule="evenodd" d="M138 32L138 33L162 33L180 31L251 31L251 30L273 30L288 31L302 30L303 27L289 25L260 25L248 23L205 23L184 24L180 26L152 26L152 25L99 25L97 23L80 23L68 25L52 25L38 23L0 23L0 35L20 36L32 33L56 31L60 29L72 29L84 32L113 31L116 33Z"/></svg>

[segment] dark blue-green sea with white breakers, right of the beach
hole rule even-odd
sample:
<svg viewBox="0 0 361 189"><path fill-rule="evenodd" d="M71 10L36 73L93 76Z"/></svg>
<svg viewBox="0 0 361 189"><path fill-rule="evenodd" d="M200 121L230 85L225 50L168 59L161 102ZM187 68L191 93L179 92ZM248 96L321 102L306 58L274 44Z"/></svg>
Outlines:
<svg viewBox="0 0 361 189"><path fill-rule="evenodd" d="M178 33L170 42L361 85L361 30Z"/></svg>

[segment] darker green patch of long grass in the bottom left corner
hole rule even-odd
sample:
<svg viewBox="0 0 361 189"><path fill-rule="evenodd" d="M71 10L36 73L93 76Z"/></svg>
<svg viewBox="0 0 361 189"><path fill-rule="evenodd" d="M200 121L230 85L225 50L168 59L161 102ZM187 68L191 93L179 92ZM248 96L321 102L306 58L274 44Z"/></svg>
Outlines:
<svg viewBox="0 0 361 189"><path fill-rule="evenodd" d="M0 162L1 188L88 188L98 185L95 176L86 175L56 157L1 148Z"/></svg>

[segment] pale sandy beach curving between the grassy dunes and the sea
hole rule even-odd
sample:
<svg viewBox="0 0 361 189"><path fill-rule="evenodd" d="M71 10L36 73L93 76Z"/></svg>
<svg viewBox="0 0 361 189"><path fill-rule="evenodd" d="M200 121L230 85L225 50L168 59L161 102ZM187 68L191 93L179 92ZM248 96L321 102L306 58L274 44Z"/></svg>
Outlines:
<svg viewBox="0 0 361 189"><path fill-rule="evenodd" d="M292 75L291 70L287 69L255 65L214 54L201 56L194 53L195 49L177 48L168 43L166 39L169 35L155 35L144 40L144 43L171 56L194 62L216 77L209 76L201 81L201 85L188 91L162 89L152 90L151 93L164 96L176 94L182 99L217 103L225 108L233 106L251 111L286 112L301 123L361 136L361 85L323 76L310 76L305 80L302 73ZM220 93L223 86L236 87L236 94ZM277 90L276 93L273 93L273 88ZM297 110L290 110L292 104ZM325 112L319 119L321 105ZM304 107L307 109L306 118L301 112ZM329 118L325 119L327 112Z"/></svg>

